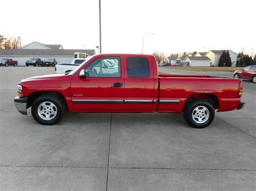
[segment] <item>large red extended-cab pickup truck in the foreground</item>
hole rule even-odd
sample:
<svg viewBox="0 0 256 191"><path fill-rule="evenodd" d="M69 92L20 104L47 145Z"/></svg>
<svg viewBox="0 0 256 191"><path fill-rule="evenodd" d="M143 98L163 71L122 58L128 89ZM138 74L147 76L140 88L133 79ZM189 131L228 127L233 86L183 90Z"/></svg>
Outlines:
<svg viewBox="0 0 256 191"><path fill-rule="evenodd" d="M206 75L158 75L156 58L94 55L66 74L30 77L18 84L15 106L43 125L70 112L176 112L205 128L214 110L241 109L242 81Z"/></svg>

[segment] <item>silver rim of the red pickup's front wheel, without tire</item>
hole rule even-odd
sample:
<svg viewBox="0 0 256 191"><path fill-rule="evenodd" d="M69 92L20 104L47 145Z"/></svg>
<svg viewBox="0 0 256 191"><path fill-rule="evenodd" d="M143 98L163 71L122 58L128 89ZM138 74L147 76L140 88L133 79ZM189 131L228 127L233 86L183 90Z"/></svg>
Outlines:
<svg viewBox="0 0 256 191"><path fill-rule="evenodd" d="M52 102L42 102L38 108L38 116L46 121L49 121L57 116L57 107Z"/></svg>

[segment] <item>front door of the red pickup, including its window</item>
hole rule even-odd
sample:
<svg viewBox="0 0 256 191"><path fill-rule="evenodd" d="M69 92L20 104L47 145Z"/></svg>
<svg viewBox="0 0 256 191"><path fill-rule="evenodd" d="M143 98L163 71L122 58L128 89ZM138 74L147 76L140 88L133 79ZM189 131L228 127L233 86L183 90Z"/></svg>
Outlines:
<svg viewBox="0 0 256 191"><path fill-rule="evenodd" d="M86 77L71 82L73 110L91 112L123 111L124 76L122 56L93 59Z"/></svg>

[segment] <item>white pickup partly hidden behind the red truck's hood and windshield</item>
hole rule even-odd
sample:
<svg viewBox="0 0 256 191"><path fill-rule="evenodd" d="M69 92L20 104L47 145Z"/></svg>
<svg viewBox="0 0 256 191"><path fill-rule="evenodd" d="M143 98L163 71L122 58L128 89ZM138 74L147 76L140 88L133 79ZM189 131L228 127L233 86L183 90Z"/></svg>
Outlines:
<svg viewBox="0 0 256 191"><path fill-rule="evenodd" d="M89 56L86 59L88 59L88 58L89 58ZM77 66L79 66L81 63L83 63L86 59L85 58L75 58L72 60L71 63L58 63L54 68L55 73L62 74L62 73L70 72L73 69L75 69Z"/></svg>

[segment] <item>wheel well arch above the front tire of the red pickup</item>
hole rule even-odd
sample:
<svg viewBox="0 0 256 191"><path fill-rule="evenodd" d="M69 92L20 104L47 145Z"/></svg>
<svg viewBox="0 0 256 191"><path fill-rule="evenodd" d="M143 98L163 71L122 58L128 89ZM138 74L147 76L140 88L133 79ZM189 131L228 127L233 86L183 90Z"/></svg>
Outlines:
<svg viewBox="0 0 256 191"><path fill-rule="evenodd" d="M67 111L69 110L68 105L66 104L65 97L61 93L59 93L58 91L35 91L35 92L33 92L28 97L27 108L31 107L32 103L36 100L37 97L39 97L41 95L46 95L46 94L58 96L60 98L60 100L63 101L63 104L65 105L65 109Z"/></svg>

